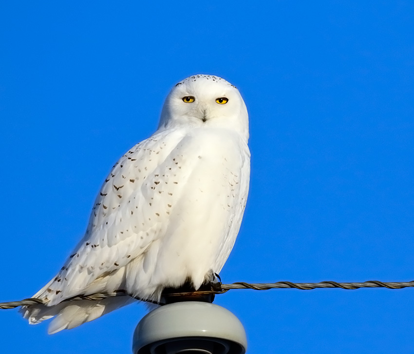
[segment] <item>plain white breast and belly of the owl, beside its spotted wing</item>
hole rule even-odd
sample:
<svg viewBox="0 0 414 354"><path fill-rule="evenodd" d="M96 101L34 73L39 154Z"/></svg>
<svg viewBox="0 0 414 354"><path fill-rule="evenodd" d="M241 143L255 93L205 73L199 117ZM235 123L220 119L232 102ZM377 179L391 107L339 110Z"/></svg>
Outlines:
<svg viewBox="0 0 414 354"><path fill-rule="evenodd" d="M209 270L220 271L240 228L249 153L236 134L200 129L182 139L170 160L171 207L156 272L187 269L185 276L200 284Z"/></svg>

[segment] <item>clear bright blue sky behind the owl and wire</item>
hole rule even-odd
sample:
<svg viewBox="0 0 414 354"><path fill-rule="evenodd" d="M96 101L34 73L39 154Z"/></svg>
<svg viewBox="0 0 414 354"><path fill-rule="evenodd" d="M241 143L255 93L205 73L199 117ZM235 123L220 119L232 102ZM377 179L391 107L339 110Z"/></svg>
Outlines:
<svg viewBox="0 0 414 354"><path fill-rule="evenodd" d="M113 163L181 79L236 85L250 193L224 283L414 279L411 1L71 1L0 6L0 301L82 236ZM249 354L413 353L414 289L233 290ZM5 353L129 353L131 305L47 335L1 311Z"/></svg>

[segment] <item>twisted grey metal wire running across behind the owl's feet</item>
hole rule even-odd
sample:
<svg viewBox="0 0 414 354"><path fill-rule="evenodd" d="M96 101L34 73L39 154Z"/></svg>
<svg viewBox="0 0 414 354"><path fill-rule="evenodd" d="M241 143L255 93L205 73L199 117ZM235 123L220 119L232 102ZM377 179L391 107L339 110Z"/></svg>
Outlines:
<svg viewBox="0 0 414 354"><path fill-rule="evenodd" d="M232 284L222 284L215 283L211 286L211 291L201 291L193 292L193 294L224 294L229 290L234 289L253 289L253 290L269 290L269 289L299 289L299 290L312 290L312 289L329 289L329 288L340 288L345 290L355 290L359 288L387 288L387 289L403 289L406 287L414 287L414 281L411 282L380 282L377 280L369 280L363 283L337 283L332 281L324 281L320 283L292 283L292 282L276 282L276 283L245 283L237 282ZM188 292L171 294L172 296L188 296ZM96 293L92 295L80 295L75 296L65 301L80 301L80 300L89 300L89 301L99 301L107 298L113 298L118 296L130 296L124 290L118 290L113 293ZM141 301L146 301L145 299L137 299ZM152 302L152 301L150 301ZM10 301L10 302L0 302L0 309L12 309L19 306L30 306L45 304L44 301L36 298L24 299L21 301Z"/></svg>

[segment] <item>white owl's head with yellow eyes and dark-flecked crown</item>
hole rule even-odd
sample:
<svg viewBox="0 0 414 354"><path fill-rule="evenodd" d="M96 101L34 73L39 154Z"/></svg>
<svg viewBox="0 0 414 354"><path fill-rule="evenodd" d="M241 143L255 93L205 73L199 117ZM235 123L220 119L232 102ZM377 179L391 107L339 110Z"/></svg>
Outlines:
<svg viewBox="0 0 414 354"><path fill-rule="evenodd" d="M165 100L158 129L185 126L231 129L248 139L248 115L238 89L213 75L180 81Z"/></svg>

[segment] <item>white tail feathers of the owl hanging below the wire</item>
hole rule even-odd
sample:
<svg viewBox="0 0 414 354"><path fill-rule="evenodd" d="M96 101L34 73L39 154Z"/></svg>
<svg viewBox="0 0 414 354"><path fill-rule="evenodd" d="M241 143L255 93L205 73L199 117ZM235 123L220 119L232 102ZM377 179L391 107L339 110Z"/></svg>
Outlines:
<svg viewBox="0 0 414 354"><path fill-rule="evenodd" d="M20 313L30 324L38 324L45 319L55 317L49 324L48 333L54 334L64 329L71 329L85 322L92 321L122 306L128 305L134 299L129 296L107 298L99 301L79 300L61 302L54 306L30 305L20 309Z"/></svg>

